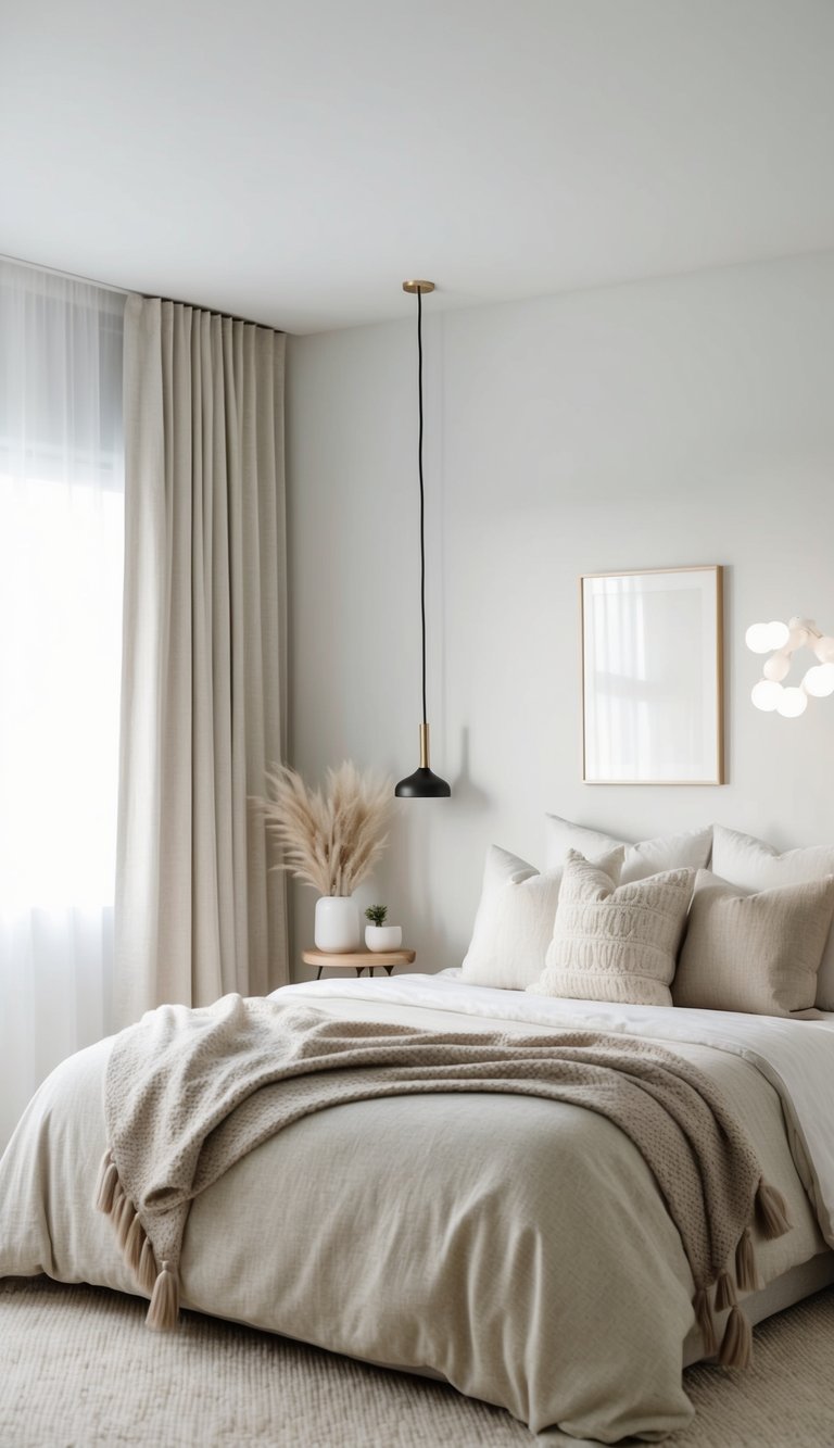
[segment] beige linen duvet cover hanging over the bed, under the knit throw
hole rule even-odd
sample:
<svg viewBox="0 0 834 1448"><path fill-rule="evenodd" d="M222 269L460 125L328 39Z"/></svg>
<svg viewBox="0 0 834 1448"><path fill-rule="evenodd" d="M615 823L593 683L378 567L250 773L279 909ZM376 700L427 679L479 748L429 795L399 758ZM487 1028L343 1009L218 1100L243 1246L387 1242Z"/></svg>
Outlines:
<svg viewBox="0 0 834 1448"><path fill-rule="evenodd" d="M410 1003L404 980L291 992L356 1019L484 1030L484 1015L437 1006L439 983L431 1005L426 988ZM508 1032L543 1030L497 1018ZM824 1251L778 1090L740 1054L675 1048L720 1083L786 1197L793 1229L757 1242L762 1280ZM109 1050L103 1041L52 1074L0 1163L0 1276L136 1290L93 1209ZM473 1093L308 1116L195 1200L181 1286L184 1306L440 1374L533 1431L659 1439L692 1416L681 1239L631 1142L576 1106Z"/></svg>

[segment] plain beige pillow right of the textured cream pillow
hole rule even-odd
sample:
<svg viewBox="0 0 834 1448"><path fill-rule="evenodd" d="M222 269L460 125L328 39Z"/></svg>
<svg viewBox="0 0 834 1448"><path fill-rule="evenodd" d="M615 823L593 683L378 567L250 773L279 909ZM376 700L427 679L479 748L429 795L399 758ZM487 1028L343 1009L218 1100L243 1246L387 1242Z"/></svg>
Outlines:
<svg viewBox="0 0 834 1448"><path fill-rule="evenodd" d="M675 1005L814 1019L834 876L757 895L698 870Z"/></svg>

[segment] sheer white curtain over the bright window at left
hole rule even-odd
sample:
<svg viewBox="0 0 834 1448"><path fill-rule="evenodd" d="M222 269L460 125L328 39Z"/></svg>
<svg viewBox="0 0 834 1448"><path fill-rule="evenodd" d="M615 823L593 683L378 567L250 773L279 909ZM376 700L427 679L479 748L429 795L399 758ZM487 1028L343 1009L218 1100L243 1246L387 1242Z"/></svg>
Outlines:
<svg viewBox="0 0 834 1448"><path fill-rule="evenodd" d="M123 310L0 261L0 1148L110 1030Z"/></svg>

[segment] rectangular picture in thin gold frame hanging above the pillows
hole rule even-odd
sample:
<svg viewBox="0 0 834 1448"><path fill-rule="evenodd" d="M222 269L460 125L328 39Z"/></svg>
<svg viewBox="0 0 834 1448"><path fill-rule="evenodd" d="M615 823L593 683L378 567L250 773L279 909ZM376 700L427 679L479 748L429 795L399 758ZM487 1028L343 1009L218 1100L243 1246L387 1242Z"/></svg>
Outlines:
<svg viewBox="0 0 834 1448"><path fill-rule="evenodd" d="M721 568L585 573L582 778L723 785Z"/></svg>

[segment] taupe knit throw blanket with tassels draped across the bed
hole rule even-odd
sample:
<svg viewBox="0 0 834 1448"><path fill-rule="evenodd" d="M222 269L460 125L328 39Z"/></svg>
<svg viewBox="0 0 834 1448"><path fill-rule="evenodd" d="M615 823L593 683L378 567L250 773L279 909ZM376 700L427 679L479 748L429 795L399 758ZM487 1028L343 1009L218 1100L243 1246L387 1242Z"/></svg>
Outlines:
<svg viewBox="0 0 834 1448"><path fill-rule="evenodd" d="M681 1234L707 1355L714 1306L730 1308L720 1350L750 1360L736 1303L756 1286L750 1225L789 1228L746 1132L694 1066L633 1037L595 1031L515 1037L339 1021L310 1006L224 996L161 1006L123 1031L110 1056L109 1150L96 1205L151 1295L148 1323L178 1318L178 1264L191 1202L253 1147L327 1106L420 1092L514 1092L570 1102L612 1121L644 1157Z"/></svg>

